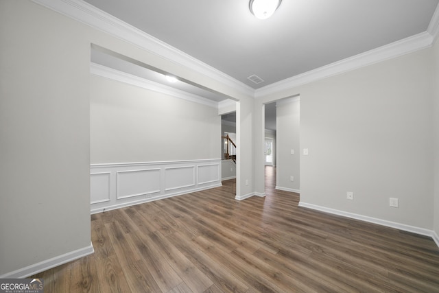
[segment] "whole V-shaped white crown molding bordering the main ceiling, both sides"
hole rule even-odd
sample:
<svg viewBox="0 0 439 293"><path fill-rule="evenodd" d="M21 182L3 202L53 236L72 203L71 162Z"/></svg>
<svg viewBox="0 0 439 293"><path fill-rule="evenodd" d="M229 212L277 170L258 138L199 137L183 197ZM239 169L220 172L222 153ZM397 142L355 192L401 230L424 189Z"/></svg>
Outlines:
<svg viewBox="0 0 439 293"><path fill-rule="evenodd" d="M192 69L203 75L213 78L230 86L230 88L248 95L251 97L259 98L265 95L271 95L287 89L292 89L296 86L308 84L310 82L316 82L333 75L359 69L360 67L366 67L377 62L395 58L404 54L409 54L414 51L431 47L434 44L439 35L439 4L436 7L433 17L429 23L429 27L426 32L398 40L394 43L384 45L377 49L372 49L364 53L340 60L330 65L325 65L318 69L294 75L291 78L268 84L260 89L254 90L250 86L239 82L235 78L226 75L222 71L219 71L204 62L185 54L184 52L176 49L164 43L158 38L154 38L149 34L128 25L117 18L112 16L93 5L86 3L82 0L32 0L35 3L43 5L51 10L71 17L76 21L90 25L97 30L106 32L116 38L132 43L137 47L145 49L161 58L165 58L170 62L173 62L183 67Z"/></svg>

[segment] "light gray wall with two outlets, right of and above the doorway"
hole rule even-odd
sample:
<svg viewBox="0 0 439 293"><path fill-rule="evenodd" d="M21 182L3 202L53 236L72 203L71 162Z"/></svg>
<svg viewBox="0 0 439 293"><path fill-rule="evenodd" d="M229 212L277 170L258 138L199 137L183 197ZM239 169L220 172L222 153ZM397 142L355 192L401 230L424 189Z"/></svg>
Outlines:
<svg viewBox="0 0 439 293"><path fill-rule="evenodd" d="M433 228L431 53L423 49L257 99L256 109L300 94L300 149L309 149L300 155L301 202ZM346 191L355 200L346 200ZM389 207L390 197L399 198L399 208Z"/></svg>

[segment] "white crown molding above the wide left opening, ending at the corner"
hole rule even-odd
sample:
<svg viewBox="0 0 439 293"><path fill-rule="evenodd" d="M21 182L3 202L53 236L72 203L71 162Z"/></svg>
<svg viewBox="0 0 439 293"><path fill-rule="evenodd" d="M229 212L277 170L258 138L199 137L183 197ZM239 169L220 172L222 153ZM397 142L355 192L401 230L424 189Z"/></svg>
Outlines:
<svg viewBox="0 0 439 293"><path fill-rule="evenodd" d="M59 12L60 14L64 14L80 23L84 23L91 27L94 27L97 30L115 36L121 40L125 40L132 45L140 47L145 51L148 51L156 56L160 56L161 58L165 58L170 62L178 65L182 65L183 67L187 67L196 71L198 73L202 73L203 75L212 78L213 80L217 80L230 86L232 89L243 93L244 95L249 95L251 97L254 96L254 89L252 89L247 84L243 82L239 82L235 78L226 75L222 71L215 69L206 63L193 58L192 56L186 54L183 51L168 45L167 43L159 40L158 38L154 38L154 36L150 36L145 32L129 25L117 19L115 16L112 16L95 6L82 1L82 0L32 0L35 3L45 6L51 10Z"/></svg>

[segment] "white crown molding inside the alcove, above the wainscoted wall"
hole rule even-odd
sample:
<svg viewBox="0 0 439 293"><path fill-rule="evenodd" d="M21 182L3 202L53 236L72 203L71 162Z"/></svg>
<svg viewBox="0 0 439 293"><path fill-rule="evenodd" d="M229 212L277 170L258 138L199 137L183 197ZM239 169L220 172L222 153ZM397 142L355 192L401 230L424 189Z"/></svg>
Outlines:
<svg viewBox="0 0 439 293"><path fill-rule="evenodd" d="M206 99L205 97L201 97L200 95L194 95L193 93L187 93L186 91L180 91L179 89L175 89L172 86L166 86L165 84L152 82L151 80L146 80L145 78L139 78L139 76L112 69L104 65L99 65L91 62L90 73L100 76L102 78L117 80L118 82L139 86L143 89L148 89L150 91L156 91L165 95L171 95L172 97L178 97L180 99L186 99L187 101L203 104L205 106L218 108L218 103L212 101L211 99Z"/></svg>

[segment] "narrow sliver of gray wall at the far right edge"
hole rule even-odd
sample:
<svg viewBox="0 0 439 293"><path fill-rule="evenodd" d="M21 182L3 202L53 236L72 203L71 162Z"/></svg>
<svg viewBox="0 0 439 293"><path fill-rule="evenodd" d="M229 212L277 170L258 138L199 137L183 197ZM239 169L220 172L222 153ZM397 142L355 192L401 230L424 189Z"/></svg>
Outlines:
<svg viewBox="0 0 439 293"><path fill-rule="evenodd" d="M439 40L434 45L434 231L439 246Z"/></svg>

